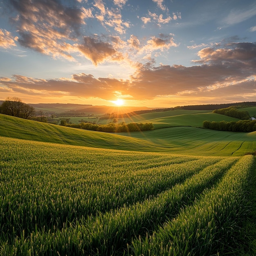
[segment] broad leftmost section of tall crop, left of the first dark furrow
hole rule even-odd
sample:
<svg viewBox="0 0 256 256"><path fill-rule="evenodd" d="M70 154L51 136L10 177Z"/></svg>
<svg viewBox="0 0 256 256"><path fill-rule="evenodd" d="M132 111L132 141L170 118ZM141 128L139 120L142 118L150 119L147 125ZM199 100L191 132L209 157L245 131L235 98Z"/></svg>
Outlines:
<svg viewBox="0 0 256 256"><path fill-rule="evenodd" d="M141 202L220 159L85 149L11 139L3 143L1 232L11 230L7 234L13 238L35 227L61 228ZM146 168L137 168L140 163Z"/></svg>

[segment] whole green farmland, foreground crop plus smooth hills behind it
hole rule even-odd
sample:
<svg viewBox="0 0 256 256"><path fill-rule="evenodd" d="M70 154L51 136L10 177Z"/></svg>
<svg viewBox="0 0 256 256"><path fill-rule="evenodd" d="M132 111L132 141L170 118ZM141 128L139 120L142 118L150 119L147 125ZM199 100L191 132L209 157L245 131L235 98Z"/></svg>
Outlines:
<svg viewBox="0 0 256 256"><path fill-rule="evenodd" d="M182 111L120 134L0 115L0 255L256 255L256 132Z"/></svg>

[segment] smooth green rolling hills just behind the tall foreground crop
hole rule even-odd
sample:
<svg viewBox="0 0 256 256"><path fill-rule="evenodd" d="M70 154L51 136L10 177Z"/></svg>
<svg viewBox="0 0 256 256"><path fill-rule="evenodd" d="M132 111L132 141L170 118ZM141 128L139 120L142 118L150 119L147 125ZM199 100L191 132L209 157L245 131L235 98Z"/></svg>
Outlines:
<svg viewBox="0 0 256 256"><path fill-rule="evenodd" d="M188 112L189 110L186 111ZM149 114L142 116L145 118L145 115ZM221 132L197 128L204 117L216 120L225 116L213 113L184 113L163 117L164 121L157 119L154 125L162 129L110 134L0 115L0 136L95 148L189 155L238 156L256 150L256 132ZM173 119L176 127L163 128L170 126L170 122L166 120Z"/></svg>

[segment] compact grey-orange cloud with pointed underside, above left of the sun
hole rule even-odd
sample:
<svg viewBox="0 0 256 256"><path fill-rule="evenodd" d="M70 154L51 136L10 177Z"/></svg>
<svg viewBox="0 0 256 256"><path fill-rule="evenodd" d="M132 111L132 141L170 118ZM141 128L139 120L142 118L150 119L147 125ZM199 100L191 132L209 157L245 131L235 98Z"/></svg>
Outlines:
<svg viewBox="0 0 256 256"><path fill-rule="evenodd" d="M106 60L121 61L124 59L122 54L117 52L110 43L100 40L96 35L94 38L84 36L83 44L76 45L76 47L96 66Z"/></svg>

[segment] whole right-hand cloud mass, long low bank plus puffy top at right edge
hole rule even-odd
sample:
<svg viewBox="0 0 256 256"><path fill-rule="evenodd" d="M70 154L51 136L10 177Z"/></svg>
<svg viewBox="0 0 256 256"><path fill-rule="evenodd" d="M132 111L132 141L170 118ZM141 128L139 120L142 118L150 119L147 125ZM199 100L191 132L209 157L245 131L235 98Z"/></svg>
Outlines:
<svg viewBox="0 0 256 256"><path fill-rule="evenodd" d="M161 42L161 41L160 41ZM160 43L161 45L161 43ZM256 93L256 44L227 43L198 52L202 65L141 65L132 76L130 95L153 99L165 95L219 97L222 90L229 95ZM246 85L245 88L240 86ZM224 89L226 88L226 89ZM236 91L232 91L236 88Z"/></svg>

